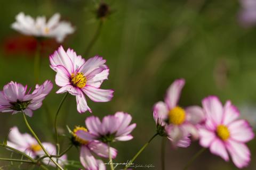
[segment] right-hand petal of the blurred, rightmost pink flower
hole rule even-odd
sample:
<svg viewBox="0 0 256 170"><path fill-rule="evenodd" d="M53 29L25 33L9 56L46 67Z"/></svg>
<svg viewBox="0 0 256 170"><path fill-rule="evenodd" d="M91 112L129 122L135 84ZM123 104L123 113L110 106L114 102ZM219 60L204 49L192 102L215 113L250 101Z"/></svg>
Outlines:
<svg viewBox="0 0 256 170"><path fill-rule="evenodd" d="M238 142L248 142L254 138L250 124L245 120L238 120L229 124L230 137Z"/></svg>

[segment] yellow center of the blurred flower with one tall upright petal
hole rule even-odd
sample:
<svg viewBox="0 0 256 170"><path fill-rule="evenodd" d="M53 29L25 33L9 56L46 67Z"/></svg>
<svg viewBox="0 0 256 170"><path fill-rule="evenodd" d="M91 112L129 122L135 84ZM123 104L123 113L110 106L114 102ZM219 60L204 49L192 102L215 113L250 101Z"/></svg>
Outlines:
<svg viewBox="0 0 256 170"><path fill-rule="evenodd" d="M169 112L169 123L180 125L185 121L186 112L181 107L177 106Z"/></svg>

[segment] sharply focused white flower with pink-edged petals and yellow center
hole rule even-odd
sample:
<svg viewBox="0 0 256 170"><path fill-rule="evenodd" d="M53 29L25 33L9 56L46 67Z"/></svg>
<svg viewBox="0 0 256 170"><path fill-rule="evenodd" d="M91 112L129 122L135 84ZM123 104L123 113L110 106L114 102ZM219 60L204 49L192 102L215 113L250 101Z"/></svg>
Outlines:
<svg viewBox="0 0 256 170"><path fill-rule="evenodd" d="M108 79L109 69L105 65L106 60L95 56L85 61L80 55L76 55L73 49L67 52L59 47L50 56L51 68L57 72L55 82L61 88L57 94L68 91L76 96L77 111L84 113L92 112L87 105L85 96L95 102L110 101L113 97L113 90L100 89L103 80Z"/></svg>

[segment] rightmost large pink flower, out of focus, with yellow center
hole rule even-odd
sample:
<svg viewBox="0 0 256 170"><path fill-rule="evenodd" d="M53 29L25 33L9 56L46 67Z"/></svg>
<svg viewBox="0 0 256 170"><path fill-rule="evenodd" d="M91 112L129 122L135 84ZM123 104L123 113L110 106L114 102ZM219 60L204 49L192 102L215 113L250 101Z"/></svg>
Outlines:
<svg viewBox="0 0 256 170"><path fill-rule="evenodd" d="M210 148L212 154L220 156L226 162L229 160L229 152L238 168L247 166L250 162L250 150L245 142L254 138L249 123L238 120L239 111L230 101L222 106L218 97L209 96L203 99L202 104L206 121L204 127L199 129L201 146Z"/></svg>

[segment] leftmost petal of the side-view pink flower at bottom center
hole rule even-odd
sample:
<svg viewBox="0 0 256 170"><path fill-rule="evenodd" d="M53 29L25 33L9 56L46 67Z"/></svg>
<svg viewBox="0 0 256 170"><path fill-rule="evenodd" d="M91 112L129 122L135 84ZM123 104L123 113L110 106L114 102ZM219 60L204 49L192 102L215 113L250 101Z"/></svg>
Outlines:
<svg viewBox="0 0 256 170"><path fill-rule="evenodd" d="M95 135L103 134L101 131L101 122L99 117L95 117L95 116L87 117L85 120L85 125L90 133L93 133Z"/></svg>

